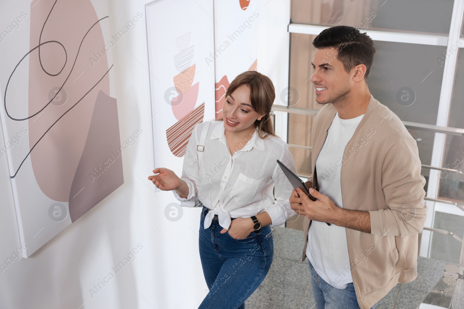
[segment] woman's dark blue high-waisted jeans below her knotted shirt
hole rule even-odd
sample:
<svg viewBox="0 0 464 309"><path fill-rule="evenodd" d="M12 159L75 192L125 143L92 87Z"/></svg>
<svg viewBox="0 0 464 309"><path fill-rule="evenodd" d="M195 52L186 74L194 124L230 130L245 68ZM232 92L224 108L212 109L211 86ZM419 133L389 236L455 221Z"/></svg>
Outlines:
<svg viewBox="0 0 464 309"><path fill-rule="evenodd" d="M200 220L200 259L209 292L199 309L245 309L245 300L258 288L272 263L271 227L262 227L244 239L221 234L217 219L204 228L209 209Z"/></svg>

